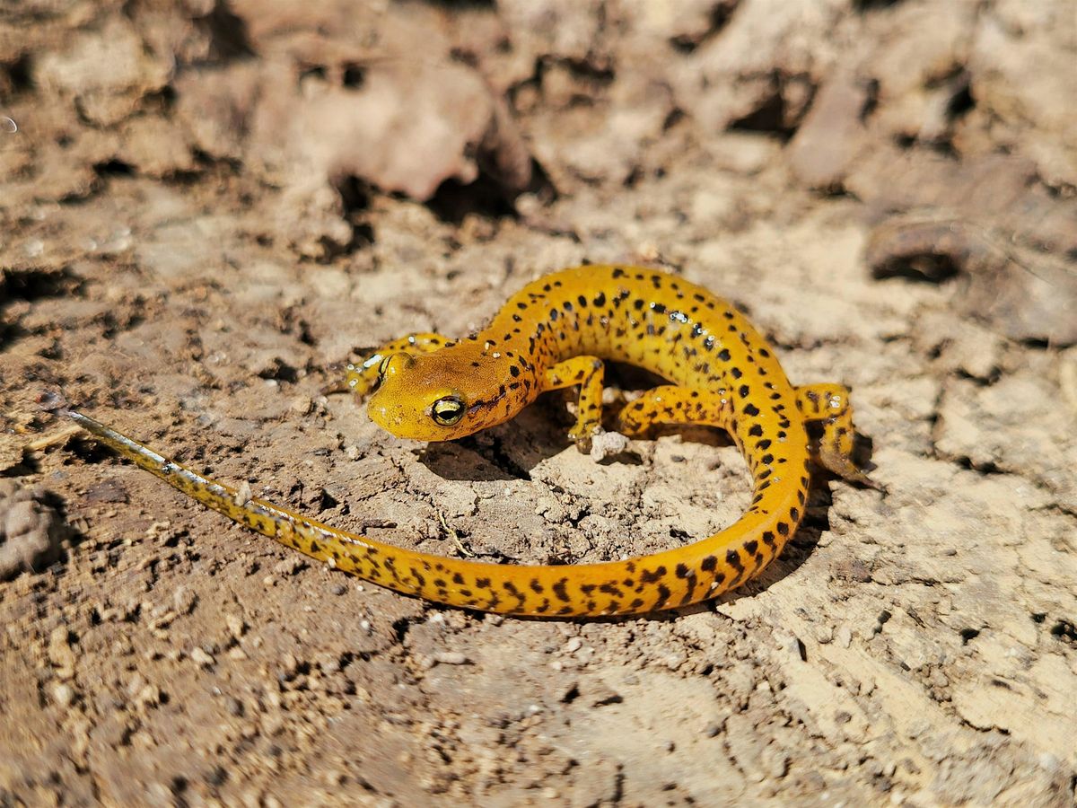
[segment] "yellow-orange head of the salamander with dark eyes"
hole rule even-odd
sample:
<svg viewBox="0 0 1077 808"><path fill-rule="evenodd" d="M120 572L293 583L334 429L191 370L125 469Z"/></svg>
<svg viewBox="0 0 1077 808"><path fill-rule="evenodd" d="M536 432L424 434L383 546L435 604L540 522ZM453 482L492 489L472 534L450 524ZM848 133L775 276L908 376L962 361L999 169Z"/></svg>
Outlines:
<svg viewBox="0 0 1077 808"><path fill-rule="evenodd" d="M380 375L381 384L366 405L370 420L397 437L416 441L464 437L508 420L530 401L508 391L507 360L473 345L417 356L393 353L382 361Z"/></svg>

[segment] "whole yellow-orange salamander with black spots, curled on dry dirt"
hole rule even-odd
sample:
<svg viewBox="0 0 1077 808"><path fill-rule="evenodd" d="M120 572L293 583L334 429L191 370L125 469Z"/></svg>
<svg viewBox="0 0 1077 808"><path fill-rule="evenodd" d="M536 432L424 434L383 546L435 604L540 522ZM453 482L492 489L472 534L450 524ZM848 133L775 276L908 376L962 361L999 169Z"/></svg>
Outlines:
<svg viewBox="0 0 1077 808"><path fill-rule="evenodd" d="M407 595L506 614L637 614L713 598L782 552L803 518L810 459L870 485L850 458L844 387L794 387L767 342L729 303L654 269L582 266L547 275L509 298L481 333L394 340L349 366L340 389L373 391L369 416L394 435L451 441L513 418L540 393L578 387L570 435L586 450L600 430L603 360L640 365L670 382L621 409L624 434L700 423L732 436L755 480L752 503L735 525L623 561L516 566L445 558L244 499L85 415L68 414L202 504L331 567ZM822 427L811 445L809 421Z"/></svg>

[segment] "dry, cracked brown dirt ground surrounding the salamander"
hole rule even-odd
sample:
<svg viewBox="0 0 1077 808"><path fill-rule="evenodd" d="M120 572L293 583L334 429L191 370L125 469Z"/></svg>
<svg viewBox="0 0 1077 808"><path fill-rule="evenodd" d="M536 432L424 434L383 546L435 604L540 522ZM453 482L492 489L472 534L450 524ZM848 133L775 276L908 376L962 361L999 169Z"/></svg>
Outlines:
<svg viewBox="0 0 1077 808"><path fill-rule="evenodd" d="M1075 29L1072 0L4 4L0 806L1074 805ZM681 273L850 385L889 493L820 476L715 603L510 619L309 563L50 413L446 555L708 535L750 496L716 433L597 463L557 395L424 446L320 394L583 261Z"/></svg>

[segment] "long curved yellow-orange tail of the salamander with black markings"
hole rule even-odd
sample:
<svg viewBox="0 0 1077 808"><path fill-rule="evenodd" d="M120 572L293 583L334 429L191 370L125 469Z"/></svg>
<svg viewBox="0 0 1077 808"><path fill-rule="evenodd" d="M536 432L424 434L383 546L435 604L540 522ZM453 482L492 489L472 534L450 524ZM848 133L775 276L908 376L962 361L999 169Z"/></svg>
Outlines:
<svg viewBox="0 0 1077 808"><path fill-rule="evenodd" d="M685 547L604 563L514 566L417 553L323 525L248 498L74 410L61 414L173 488L311 558L375 584L448 605L504 614L640 614L713 598L757 574L781 552L803 513L807 452L789 444L782 475L755 473L755 499L735 525ZM761 440L730 424L750 463ZM743 431L744 434L740 434ZM784 477L784 478L783 478Z"/></svg>

